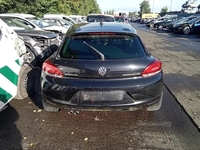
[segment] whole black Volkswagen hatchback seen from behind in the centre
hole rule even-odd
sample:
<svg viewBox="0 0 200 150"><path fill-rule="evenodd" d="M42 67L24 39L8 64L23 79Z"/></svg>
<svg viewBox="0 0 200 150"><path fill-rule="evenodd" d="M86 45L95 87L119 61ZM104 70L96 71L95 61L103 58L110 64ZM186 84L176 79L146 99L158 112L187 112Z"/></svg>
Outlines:
<svg viewBox="0 0 200 150"><path fill-rule="evenodd" d="M133 27L117 22L73 25L42 66L46 111L129 110L161 107L161 62Z"/></svg>

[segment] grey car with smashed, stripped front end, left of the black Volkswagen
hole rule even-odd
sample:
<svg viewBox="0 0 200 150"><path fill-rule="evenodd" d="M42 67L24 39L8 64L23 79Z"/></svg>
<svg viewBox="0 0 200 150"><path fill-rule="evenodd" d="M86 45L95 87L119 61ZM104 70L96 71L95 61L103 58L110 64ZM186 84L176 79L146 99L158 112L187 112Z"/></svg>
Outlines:
<svg viewBox="0 0 200 150"><path fill-rule="evenodd" d="M31 27L23 24L19 20L10 17L0 17L10 28L12 28L20 37L23 37L27 57L26 63L35 63L35 58L50 45L60 45L61 39L58 34L44 30L33 30Z"/></svg>

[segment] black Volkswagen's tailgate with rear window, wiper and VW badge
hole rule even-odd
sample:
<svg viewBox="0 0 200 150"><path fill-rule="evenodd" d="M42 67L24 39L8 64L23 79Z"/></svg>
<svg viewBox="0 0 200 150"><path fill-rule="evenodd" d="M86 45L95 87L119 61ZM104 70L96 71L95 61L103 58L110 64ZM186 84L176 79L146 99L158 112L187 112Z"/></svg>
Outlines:
<svg viewBox="0 0 200 150"><path fill-rule="evenodd" d="M137 35L114 33L67 38L58 57L53 63L64 76L78 78L140 76L154 60Z"/></svg>

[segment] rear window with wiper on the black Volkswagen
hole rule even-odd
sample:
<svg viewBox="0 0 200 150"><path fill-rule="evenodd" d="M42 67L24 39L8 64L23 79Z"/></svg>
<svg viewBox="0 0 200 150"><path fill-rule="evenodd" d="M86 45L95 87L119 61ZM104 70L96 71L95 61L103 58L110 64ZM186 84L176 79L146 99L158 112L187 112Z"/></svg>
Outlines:
<svg viewBox="0 0 200 150"><path fill-rule="evenodd" d="M86 35L66 38L60 51L67 59L130 59L144 57L144 48L137 36Z"/></svg>

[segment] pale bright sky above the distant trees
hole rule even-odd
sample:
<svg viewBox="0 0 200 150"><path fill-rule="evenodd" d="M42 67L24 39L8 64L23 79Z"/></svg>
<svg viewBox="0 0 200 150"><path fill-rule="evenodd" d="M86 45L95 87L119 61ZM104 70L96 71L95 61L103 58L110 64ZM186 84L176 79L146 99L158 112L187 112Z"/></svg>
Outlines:
<svg viewBox="0 0 200 150"><path fill-rule="evenodd" d="M120 11L125 10L129 12L139 11L140 3L143 0L96 0L102 12L112 10ZM150 8L155 13L160 13L161 9L165 6L168 11L180 11L181 6L186 0L149 0ZM196 0L200 4L200 0Z"/></svg>

